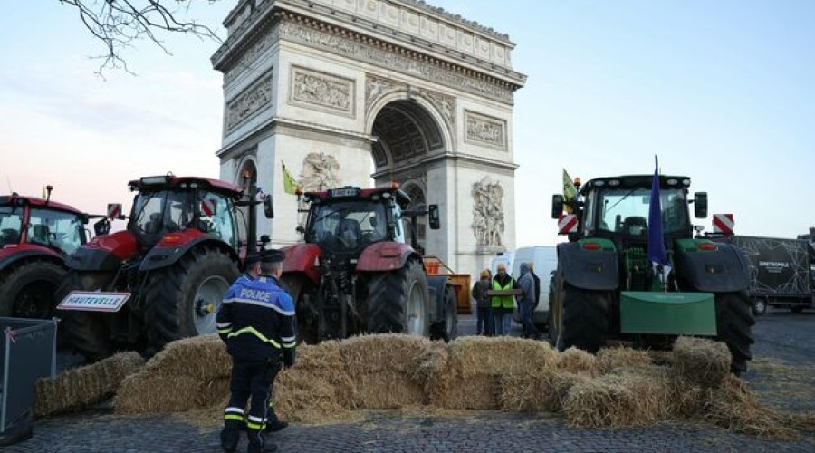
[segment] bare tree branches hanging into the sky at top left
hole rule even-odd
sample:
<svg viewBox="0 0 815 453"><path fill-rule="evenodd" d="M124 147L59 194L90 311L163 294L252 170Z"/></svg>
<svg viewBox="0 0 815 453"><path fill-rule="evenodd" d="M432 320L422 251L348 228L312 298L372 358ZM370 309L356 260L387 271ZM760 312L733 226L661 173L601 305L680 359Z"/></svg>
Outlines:
<svg viewBox="0 0 815 453"><path fill-rule="evenodd" d="M130 72L123 51L135 41L152 42L171 55L162 40L163 34L191 34L199 39L221 43L221 38L207 25L181 17L189 13L194 1L214 4L219 0L58 0L72 6L85 28L104 46L98 73L122 69Z"/></svg>

